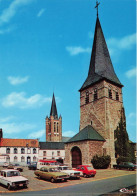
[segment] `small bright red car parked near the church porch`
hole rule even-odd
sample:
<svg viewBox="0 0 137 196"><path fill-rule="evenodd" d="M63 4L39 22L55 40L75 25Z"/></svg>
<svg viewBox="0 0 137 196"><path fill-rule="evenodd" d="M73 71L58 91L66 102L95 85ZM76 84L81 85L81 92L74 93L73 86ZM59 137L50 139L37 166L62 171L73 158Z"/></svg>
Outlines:
<svg viewBox="0 0 137 196"><path fill-rule="evenodd" d="M94 177L96 175L96 170L90 165L79 165L76 170L83 172L83 176L85 178Z"/></svg>

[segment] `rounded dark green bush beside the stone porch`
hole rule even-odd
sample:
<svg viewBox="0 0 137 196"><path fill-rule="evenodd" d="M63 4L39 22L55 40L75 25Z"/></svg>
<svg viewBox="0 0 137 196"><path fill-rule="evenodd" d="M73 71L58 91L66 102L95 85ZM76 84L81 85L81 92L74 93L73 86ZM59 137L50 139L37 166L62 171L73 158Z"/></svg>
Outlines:
<svg viewBox="0 0 137 196"><path fill-rule="evenodd" d="M95 169L107 169L109 167L110 162L111 162L111 158L109 155L107 156L95 155L91 160L91 163L93 164L93 167Z"/></svg>

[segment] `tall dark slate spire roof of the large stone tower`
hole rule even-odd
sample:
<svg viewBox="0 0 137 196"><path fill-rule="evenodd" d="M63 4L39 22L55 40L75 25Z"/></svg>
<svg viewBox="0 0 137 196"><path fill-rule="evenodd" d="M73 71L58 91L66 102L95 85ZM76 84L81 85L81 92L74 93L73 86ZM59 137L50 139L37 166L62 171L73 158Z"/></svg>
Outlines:
<svg viewBox="0 0 137 196"><path fill-rule="evenodd" d="M89 72L79 91L101 80L108 80L120 87L123 86L114 71L100 21L97 17Z"/></svg>

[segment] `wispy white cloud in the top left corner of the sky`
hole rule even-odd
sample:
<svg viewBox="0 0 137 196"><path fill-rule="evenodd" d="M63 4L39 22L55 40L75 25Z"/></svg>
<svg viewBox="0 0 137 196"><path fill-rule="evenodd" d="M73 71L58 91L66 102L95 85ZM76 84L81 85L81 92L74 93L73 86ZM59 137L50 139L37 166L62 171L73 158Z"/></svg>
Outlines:
<svg viewBox="0 0 137 196"><path fill-rule="evenodd" d="M15 15L18 9L22 6L28 5L34 0L14 0L9 5L8 8L3 10L2 14L0 15L0 25L4 23L8 23Z"/></svg>

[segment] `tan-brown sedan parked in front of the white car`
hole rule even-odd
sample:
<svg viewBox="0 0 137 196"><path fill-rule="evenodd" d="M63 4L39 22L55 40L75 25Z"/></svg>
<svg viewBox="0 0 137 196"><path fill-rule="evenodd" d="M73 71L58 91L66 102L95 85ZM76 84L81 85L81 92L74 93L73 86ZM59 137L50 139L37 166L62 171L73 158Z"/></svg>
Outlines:
<svg viewBox="0 0 137 196"><path fill-rule="evenodd" d="M67 181L69 179L67 173L60 172L53 166L41 167L40 170L36 170L34 173L38 178L50 180L52 183L56 181Z"/></svg>

